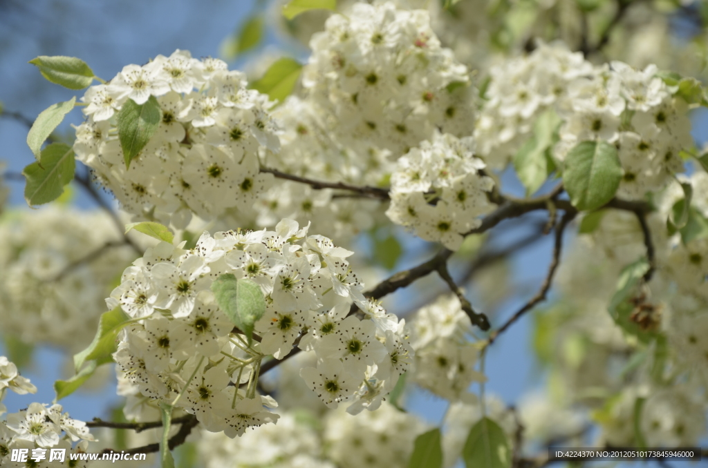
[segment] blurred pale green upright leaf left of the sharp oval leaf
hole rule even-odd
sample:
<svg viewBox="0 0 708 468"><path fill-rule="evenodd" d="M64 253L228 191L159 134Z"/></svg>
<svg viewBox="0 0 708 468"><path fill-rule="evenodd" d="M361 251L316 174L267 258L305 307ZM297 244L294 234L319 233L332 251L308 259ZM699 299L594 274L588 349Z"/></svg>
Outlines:
<svg viewBox="0 0 708 468"><path fill-rule="evenodd" d="M550 148L558 140L556 131L561 119L556 112L548 110L539 115L533 136L521 146L514 156L514 168L527 196L536 192L552 172L549 164Z"/></svg>

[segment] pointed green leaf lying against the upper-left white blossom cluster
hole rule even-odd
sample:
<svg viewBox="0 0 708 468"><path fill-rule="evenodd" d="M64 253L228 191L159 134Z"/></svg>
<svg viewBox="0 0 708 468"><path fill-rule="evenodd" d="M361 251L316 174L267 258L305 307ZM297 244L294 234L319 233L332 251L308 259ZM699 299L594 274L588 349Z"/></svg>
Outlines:
<svg viewBox="0 0 708 468"><path fill-rule="evenodd" d="M125 101L118 112L118 139L126 168L155 134L161 118L162 112L155 96L150 96L144 104L136 104L132 99Z"/></svg>

